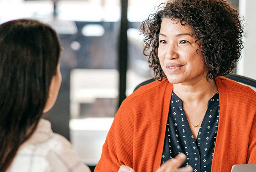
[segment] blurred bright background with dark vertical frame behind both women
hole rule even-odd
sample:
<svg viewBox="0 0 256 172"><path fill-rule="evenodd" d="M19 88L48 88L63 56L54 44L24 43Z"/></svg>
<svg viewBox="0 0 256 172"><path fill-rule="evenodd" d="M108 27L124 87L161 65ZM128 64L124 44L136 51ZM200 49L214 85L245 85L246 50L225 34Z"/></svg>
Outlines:
<svg viewBox="0 0 256 172"><path fill-rule="evenodd" d="M166 0L0 0L0 23L34 18L59 34L63 80L56 104L44 118L92 170L122 100L153 76L138 29L161 2ZM256 2L231 2L246 24L236 72L256 79Z"/></svg>

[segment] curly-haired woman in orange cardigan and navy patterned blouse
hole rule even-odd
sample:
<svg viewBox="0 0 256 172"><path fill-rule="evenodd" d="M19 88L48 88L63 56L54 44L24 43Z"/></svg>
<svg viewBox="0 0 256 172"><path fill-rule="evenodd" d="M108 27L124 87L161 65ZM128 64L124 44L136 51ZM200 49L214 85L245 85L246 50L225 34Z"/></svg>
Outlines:
<svg viewBox="0 0 256 172"><path fill-rule="evenodd" d="M172 0L143 21L156 81L122 103L96 172L256 163L256 92L224 77L241 56L239 19L227 0Z"/></svg>

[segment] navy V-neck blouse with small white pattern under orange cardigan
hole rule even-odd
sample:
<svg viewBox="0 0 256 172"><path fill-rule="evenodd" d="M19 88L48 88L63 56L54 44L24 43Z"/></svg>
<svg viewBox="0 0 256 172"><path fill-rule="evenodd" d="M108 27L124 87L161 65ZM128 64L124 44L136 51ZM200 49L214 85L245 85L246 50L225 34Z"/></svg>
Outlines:
<svg viewBox="0 0 256 172"><path fill-rule="evenodd" d="M208 101L208 109L195 141L183 103L172 93L166 126L162 164L181 152L187 156L182 167L191 165L194 172L210 172L220 112L218 92Z"/></svg>

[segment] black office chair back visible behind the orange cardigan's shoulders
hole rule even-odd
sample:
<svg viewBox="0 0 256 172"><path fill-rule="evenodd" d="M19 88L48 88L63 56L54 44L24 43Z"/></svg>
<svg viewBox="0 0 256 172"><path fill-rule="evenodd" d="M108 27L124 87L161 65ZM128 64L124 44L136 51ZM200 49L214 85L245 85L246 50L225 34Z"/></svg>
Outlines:
<svg viewBox="0 0 256 172"><path fill-rule="evenodd" d="M237 74L231 74L231 75L227 75L225 76L226 78L229 78L231 80L234 80L234 81L237 81L241 84L244 84L244 85L247 85L247 86L250 86L252 89L254 89L256 91L256 80L253 80L251 78L247 78L245 76L241 76L241 75L237 75ZM141 86L144 86L146 84L149 84L151 82L155 81L154 79L150 79L150 80L147 80L147 81L144 81L142 82L141 84L138 84L138 86L136 86L136 88L134 89L137 90L138 88L140 88ZM134 92L133 91L133 92Z"/></svg>

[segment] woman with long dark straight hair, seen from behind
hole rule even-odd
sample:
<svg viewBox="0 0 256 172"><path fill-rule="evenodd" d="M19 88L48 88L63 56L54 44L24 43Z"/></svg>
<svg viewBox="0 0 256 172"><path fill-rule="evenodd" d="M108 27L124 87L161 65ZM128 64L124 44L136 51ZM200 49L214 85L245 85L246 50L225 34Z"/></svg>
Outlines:
<svg viewBox="0 0 256 172"><path fill-rule="evenodd" d="M0 172L90 171L43 113L61 85L61 46L37 20L0 25Z"/></svg>

